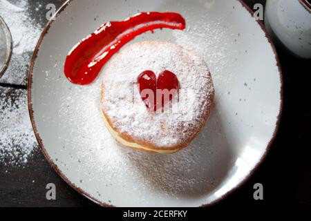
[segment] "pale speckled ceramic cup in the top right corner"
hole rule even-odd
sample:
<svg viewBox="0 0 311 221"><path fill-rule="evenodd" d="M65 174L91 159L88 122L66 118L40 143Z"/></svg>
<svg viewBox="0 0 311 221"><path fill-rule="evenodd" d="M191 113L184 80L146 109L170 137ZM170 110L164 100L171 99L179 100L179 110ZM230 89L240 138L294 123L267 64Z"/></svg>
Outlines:
<svg viewBox="0 0 311 221"><path fill-rule="evenodd" d="M265 26L294 55L311 58L310 0L267 0Z"/></svg>

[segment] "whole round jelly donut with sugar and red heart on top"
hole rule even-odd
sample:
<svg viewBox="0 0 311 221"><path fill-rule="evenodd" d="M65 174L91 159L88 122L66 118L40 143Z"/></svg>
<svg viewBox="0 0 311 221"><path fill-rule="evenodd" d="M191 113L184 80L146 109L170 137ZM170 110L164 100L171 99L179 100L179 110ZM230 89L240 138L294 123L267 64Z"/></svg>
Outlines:
<svg viewBox="0 0 311 221"><path fill-rule="evenodd" d="M102 74L104 122L124 146L173 153L188 146L209 119L214 85L196 52L142 41L115 55Z"/></svg>

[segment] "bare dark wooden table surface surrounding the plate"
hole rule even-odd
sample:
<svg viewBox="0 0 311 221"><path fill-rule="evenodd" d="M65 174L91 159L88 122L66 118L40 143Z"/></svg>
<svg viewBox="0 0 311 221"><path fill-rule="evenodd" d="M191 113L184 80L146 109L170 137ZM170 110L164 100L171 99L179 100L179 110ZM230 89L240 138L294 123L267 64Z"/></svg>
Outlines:
<svg viewBox="0 0 311 221"><path fill-rule="evenodd" d="M30 16L46 23L46 6L63 0L30 1ZM250 8L265 0L245 0ZM216 208L245 206L308 206L311 207L311 108L310 60L297 59L283 48L277 48L284 81L284 106L279 132L270 153L256 173L240 189L216 204ZM260 62L260 61L258 61ZM264 64L263 64L264 65ZM0 79L0 99L12 96L17 90L26 93L25 71L22 79ZM9 88L9 89L8 89ZM6 93L4 93L6 91ZM26 105L26 102L25 102ZM0 107L1 108L1 107ZM1 122L0 122L1 124ZM57 200L46 200L46 184L57 186ZM254 200L253 186L264 187L264 200ZM0 206L97 206L71 189L50 167L36 147L26 164L12 166L0 162Z"/></svg>

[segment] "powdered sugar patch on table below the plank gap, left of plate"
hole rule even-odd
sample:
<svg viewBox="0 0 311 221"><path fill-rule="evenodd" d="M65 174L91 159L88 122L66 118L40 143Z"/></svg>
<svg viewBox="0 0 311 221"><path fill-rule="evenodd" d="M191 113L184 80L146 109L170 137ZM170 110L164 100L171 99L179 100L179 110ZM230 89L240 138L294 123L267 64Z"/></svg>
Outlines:
<svg viewBox="0 0 311 221"><path fill-rule="evenodd" d="M26 90L0 88L0 164L26 163L37 144L26 97Z"/></svg>

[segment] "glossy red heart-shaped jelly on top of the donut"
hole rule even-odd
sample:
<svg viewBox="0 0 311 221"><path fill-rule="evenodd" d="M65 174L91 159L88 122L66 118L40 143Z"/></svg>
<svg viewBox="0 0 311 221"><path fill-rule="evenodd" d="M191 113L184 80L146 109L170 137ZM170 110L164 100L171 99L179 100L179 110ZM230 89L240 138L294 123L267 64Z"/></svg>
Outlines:
<svg viewBox="0 0 311 221"><path fill-rule="evenodd" d="M179 83L176 75L169 70L164 70L156 79L152 70L145 70L138 75L137 82L140 95L149 112L156 112L164 104L178 94Z"/></svg>

